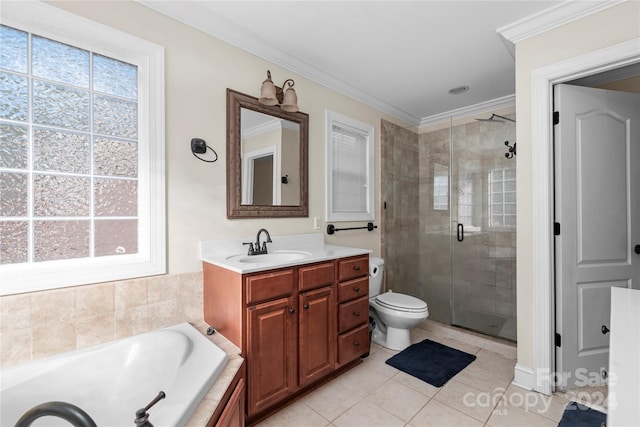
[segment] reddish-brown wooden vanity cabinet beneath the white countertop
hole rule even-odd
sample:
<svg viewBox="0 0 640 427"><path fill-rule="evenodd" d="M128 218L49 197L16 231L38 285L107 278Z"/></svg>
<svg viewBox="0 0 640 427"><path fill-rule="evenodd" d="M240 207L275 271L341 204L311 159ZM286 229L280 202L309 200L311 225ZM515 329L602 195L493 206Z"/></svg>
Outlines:
<svg viewBox="0 0 640 427"><path fill-rule="evenodd" d="M246 274L203 263L204 320L246 357L249 421L368 351L368 260Z"/></svg>

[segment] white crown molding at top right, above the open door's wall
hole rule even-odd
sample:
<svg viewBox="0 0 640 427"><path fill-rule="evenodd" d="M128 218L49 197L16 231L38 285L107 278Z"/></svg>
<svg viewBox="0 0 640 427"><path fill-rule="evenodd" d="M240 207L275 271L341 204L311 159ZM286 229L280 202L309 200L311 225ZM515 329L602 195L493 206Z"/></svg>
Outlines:
<svg viewBox="0 0 640 427"><path fill-rule="evenodd" d="M616 6L624 1L625 0L564 1L549 9L500 27L496 32L511 43L518 43L568 24L569 22Z"/></svg>

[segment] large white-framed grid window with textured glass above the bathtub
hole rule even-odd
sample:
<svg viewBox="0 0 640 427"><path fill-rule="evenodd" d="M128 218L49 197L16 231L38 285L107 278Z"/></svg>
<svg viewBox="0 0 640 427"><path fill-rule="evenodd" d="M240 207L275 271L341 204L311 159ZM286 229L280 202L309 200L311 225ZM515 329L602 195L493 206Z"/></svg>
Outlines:
<svg viewBox="0 0 640 427"><path fill-rule="evenodd" d="M162 48L12 3L0 26L0 294L164 273Z"/></svg>

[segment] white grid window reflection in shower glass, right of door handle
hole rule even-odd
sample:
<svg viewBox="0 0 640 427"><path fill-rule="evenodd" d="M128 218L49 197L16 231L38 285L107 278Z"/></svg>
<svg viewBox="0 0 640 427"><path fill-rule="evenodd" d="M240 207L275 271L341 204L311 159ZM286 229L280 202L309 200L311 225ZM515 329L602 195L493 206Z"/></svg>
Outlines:
<svg viewBox="0 0 640 427"><path fill-rule="evenodd" d="M489 172L489 226L516 227L516 170Z"/></svg>

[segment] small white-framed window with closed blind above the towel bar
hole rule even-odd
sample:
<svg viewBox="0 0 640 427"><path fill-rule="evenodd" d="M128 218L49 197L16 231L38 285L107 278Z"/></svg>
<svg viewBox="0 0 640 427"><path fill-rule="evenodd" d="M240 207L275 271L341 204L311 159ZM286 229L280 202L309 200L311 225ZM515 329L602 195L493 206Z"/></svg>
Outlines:
<svg viewBox="0 0 640 427"><path fill-rule="evenodd" d="M373 126L327 111L327 221L372 221Z"/></svg>

